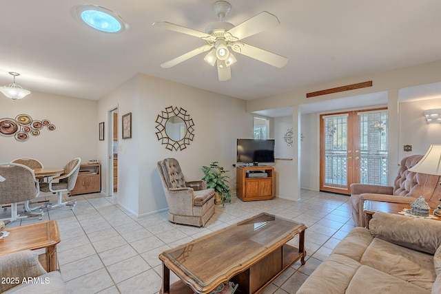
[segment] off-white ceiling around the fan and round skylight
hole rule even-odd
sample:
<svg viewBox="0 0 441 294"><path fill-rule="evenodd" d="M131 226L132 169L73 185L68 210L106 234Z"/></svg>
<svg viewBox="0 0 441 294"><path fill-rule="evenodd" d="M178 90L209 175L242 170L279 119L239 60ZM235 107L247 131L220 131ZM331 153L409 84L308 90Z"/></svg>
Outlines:
<svg viewBox="0 0 441 294"><path fill-rule="evenodd" d="M214 0L16 0L0 3L0 85L19 72L25 89L79 98L102 98L141 72L242 98L261 98L300 87L441 60L440 0L230 0L225 21L234 25L264 10L280 25L244 43L286 56L276 68L236 54L232 78L218 81L205 54L174 67L161 63L205 41L152 26L169 21L205 30L218 21ZM127 23L120 34L86 27L80 4L113 10Z"/></svg>

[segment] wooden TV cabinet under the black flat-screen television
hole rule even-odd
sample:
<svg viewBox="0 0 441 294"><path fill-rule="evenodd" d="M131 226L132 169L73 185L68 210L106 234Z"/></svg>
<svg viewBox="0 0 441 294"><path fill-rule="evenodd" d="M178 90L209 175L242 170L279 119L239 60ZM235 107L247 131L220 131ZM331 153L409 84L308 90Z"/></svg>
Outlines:
<svg viewBox="0 0 441 294"><path fill-rule="evenodd" d="M247 174L263 171L266 177L251 178ZM236 195L242 201L269 200L274 198L274 167L237 167Z"/></svg>

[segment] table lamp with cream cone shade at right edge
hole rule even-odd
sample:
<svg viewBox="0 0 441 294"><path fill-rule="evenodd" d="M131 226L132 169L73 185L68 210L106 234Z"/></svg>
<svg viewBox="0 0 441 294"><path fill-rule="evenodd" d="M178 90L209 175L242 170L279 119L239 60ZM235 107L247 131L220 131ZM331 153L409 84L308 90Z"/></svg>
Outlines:
<svg viewBox="0 0 441 294"><path fill-rule="evenodd" d="M441 176L441 145L430 145L429 150L427 150L423 158L414 167L409 169L409 171ZM435 216L441 216L441 204L433 211L433 214Z"/></svg>

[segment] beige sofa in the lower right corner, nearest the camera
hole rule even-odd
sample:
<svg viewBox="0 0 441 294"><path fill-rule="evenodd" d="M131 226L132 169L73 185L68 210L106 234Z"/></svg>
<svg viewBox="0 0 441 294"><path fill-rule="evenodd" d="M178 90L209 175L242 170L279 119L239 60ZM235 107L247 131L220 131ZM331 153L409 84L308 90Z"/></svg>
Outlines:
<svg viewBox="0 0 441 294"><path fill-rule="evenodd" d="M378 212L369 227L354 228L297 293L441 293L441 222Z"/></svg>

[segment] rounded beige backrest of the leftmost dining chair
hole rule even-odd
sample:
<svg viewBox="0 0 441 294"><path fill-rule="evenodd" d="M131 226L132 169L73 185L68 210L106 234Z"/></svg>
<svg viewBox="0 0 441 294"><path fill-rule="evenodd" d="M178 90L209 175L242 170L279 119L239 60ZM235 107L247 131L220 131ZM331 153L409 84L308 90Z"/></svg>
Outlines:
<svg viewBox="0 0 441 294"><path fill-rule="evenodd" d="M0 164L0 204L10 204L34 199L39 195L39 183L34 171L18 163Z"/></svg>

